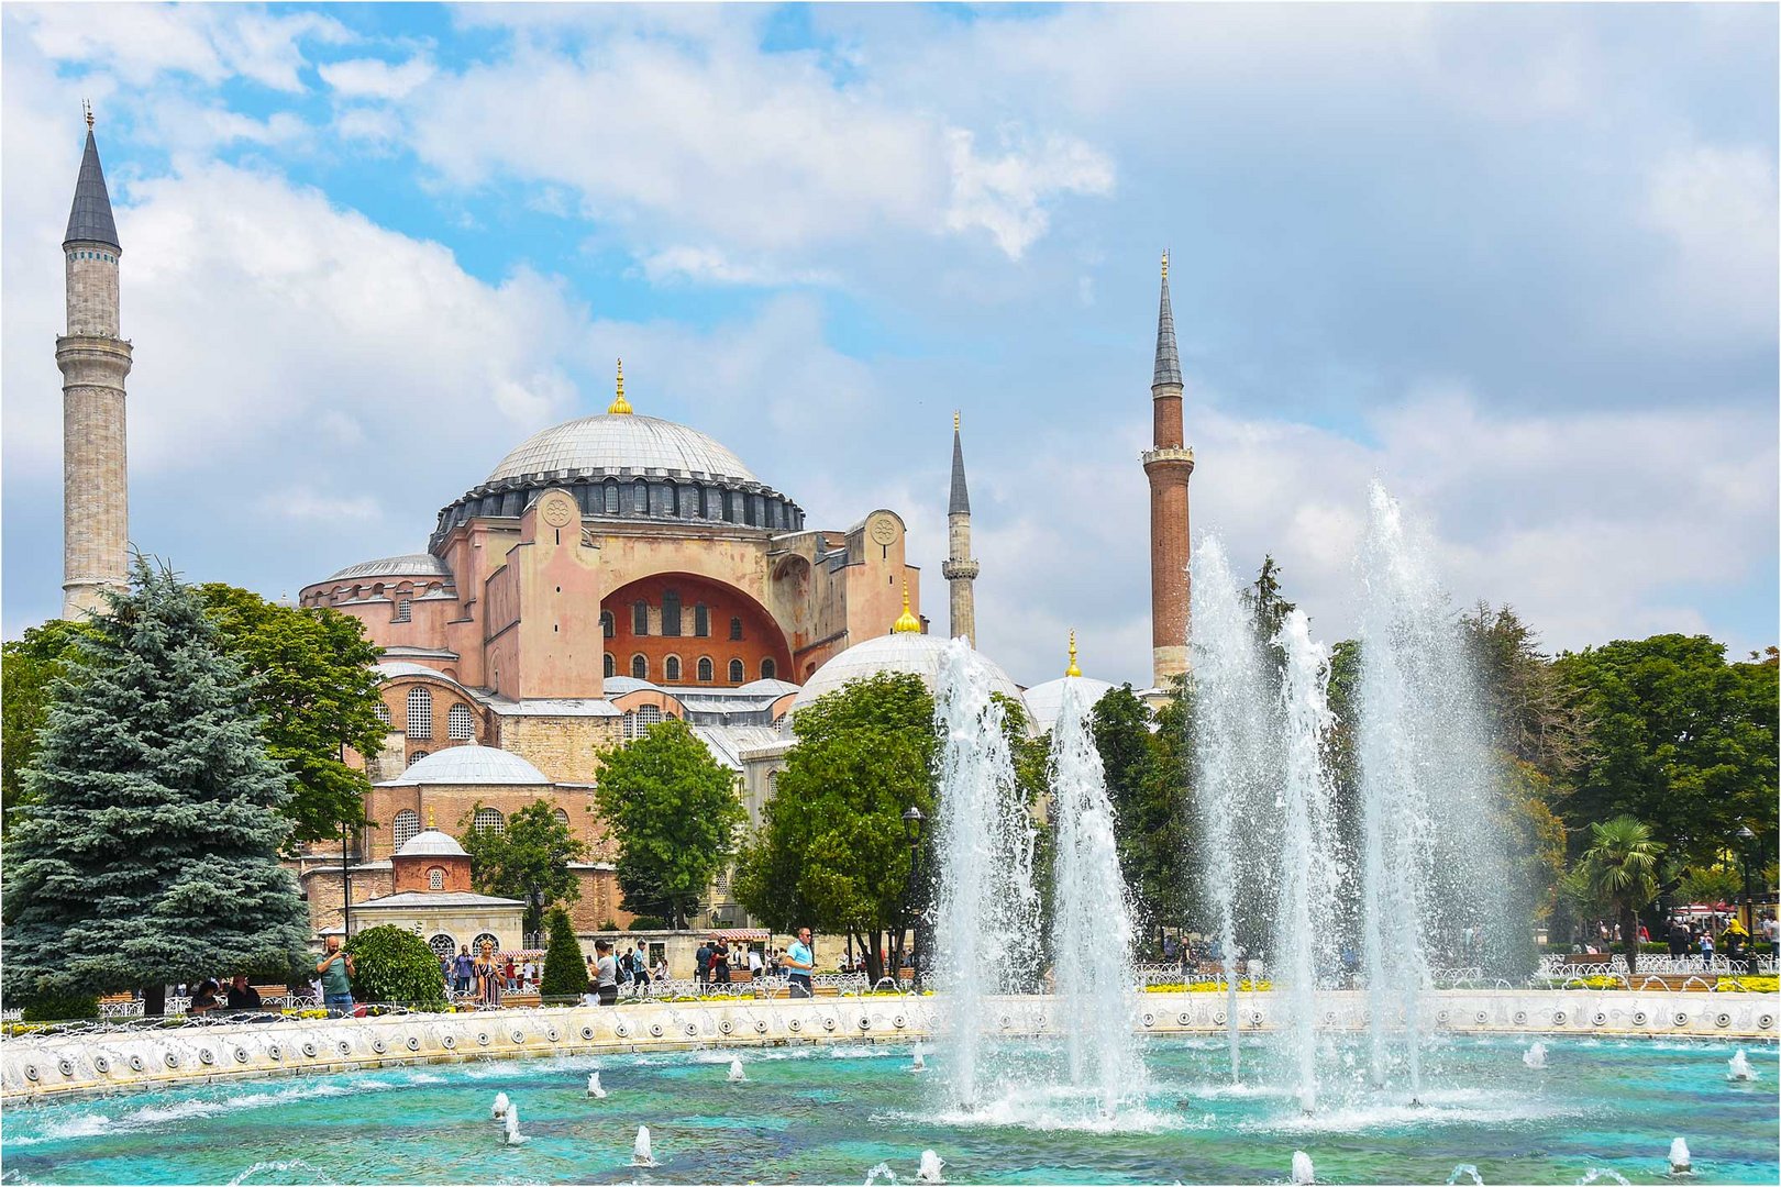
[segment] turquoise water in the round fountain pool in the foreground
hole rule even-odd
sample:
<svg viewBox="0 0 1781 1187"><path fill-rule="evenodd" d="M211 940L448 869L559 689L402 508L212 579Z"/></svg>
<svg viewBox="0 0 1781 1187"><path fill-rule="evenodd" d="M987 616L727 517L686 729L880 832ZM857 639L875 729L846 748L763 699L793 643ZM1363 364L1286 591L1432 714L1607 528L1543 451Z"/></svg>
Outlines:
<svg viewBox="0 0 1781 1187"><path fill-rule="evenodd" d="M1364 1062L1345 1043L1327 1057ZM914 1073L908 1046L734 1052L739 1086L732 1052L445 1064L14 1107L0 1157L7 1183L862 1183L880 1162L907 1183L931 1148L953 1183L1277 1183L1304 1150L1332 1183L1444 1183L1460 1164L1485 1183L1649 1183L1681 1135L1696 1182L1781 1178L1774 1045L1745 1048L1753 1084L1726 1080L1726 1043L1558 1039L1546 1071L1525 1048L1446 1039L1423 1107L1343 1086L1304 1118L1286 1093L1232 1087L1222 1041L1152 1039L1145 1100L1115 1121L1056 1087L1038 1045L981 1114L944 1102L944 1050ZM1265 1075L1261 1041L1250 1055ZM593 1068L606 1100L586 1096ZM495 1093L525 1144L500 1144ZM650 1169L630 1166L639 1125Z"/></svg>

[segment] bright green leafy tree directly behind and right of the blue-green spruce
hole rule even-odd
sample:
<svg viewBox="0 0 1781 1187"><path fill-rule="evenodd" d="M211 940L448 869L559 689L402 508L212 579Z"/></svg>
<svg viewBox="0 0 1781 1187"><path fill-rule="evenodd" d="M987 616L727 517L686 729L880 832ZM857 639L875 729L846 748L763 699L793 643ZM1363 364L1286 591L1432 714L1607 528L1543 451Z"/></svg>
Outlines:
<svg viewBox="0 0 1781 1187"><path fill-rule="evenodd" d="M328 840L340 824L363 824L365 772L346 763L353 749L374 756L388 726L378 717L381 648L365 626L328 607L289 607L233 585L201 585L205 610L226 650L253 676L267 751L290 772L285 813L294 840Z"/></svg>

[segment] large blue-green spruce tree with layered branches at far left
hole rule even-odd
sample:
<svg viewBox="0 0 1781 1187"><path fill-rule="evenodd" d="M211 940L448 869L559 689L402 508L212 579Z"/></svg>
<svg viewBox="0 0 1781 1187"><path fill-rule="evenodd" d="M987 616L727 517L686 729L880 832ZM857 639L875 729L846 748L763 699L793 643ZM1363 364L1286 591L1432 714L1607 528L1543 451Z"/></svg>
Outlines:
<svg viewBox="0 0 1781 1187"><path fill-rule="evenodd" d="M160 1013L167 982L289 973L308 916L278 865L285 772L201 598L137 557L105 602L23 776L5 979L27 1002L139 986Z"/></svg>

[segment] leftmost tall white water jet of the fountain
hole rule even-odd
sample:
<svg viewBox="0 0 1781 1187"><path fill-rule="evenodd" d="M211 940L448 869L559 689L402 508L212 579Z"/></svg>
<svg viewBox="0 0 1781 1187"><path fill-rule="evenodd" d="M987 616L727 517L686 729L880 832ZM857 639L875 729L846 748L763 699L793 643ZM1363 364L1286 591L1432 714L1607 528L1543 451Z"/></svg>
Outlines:
<svg viewBox="0 0 1781 1187"><path fill-rule="evenodd" d="M946 1071L953 1096L974 1107L988 1077L983 1030L999 993L1033 988L1033 824L1015 783L1001 705L971 644L953 639L935 696L940 803L935 949L944 988Z"/></svg>

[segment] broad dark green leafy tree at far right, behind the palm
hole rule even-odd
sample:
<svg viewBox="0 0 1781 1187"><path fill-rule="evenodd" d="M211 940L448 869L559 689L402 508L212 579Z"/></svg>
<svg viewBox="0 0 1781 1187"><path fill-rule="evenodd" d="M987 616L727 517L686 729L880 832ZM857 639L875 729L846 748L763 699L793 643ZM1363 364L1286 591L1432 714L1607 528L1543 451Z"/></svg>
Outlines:
<svg viewBox="0 0 1781 1187"><path fill-rule="evenodd" d="M1574 829L1644 820L1678 861L1712 861L1740 826L1776 835L1776 669L1728 664L1704 635L1653 635L1557 660L1592 746L1557 810Z"/></svg>

